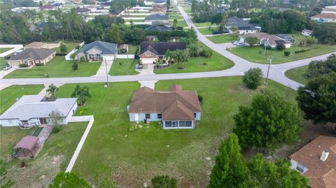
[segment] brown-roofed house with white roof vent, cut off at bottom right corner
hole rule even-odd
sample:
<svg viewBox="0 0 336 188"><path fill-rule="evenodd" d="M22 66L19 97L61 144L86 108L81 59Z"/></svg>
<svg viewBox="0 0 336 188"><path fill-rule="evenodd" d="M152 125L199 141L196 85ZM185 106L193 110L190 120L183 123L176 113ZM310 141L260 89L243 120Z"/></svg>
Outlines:
<svg viewBox="0 0 336 188"><path fill-rule="evenodd" d="M336 187L336 138L318 136L290 156L290 168L310 179L311 188Z"/></svg>

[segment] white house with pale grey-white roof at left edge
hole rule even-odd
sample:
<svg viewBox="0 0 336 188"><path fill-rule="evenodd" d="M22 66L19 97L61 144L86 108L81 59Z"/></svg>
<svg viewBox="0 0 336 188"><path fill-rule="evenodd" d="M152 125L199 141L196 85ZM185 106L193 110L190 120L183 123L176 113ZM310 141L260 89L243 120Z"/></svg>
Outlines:
<svg viewBox="0 0 336 188"><path fill-rule="evenodd" d="M45 95L24 95L0 116L2 126L20 126L28 128L41 124L52 124L50 113L59 112L59 124L68 124L75 113L77 98L46 100Z"/></svg>

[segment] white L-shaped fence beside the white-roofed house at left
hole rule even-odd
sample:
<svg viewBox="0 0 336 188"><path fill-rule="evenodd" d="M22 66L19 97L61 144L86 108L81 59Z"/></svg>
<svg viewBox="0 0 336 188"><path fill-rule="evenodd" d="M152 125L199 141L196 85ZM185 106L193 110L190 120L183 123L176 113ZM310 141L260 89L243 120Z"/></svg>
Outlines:
<svg viewBox="0 0 336 188"><path fill-rule="evenodd" d="M91 127L92 127L92 124L93 124L93 122L94 122L93 115L77 116L77 117L83 117L83 118L78 118L78 120L79 120L80 122L81 122L81 120L83 120L83 122L87 122L87 120L88 120L89 117L90 117L90 120L89 120L89 124L87 124L87 126L86 126L86 129L85 129L85 131L84 131L84 133L83 133L82 138L80 138L80 141L79 141L79 143L78 143L78 145L77 145L77 147L76 147L75 152L73 153L73 156L71 157L71 160L70 160L70 162L69 162L69 164L68 164L68 167L66 167L65 172L71 172L71 170L72 170L72 168L73 168L73 165L75 164L76 159L77 159L77 157L78 157L78 154L79 154L80 150L82 150L82 147L83 147L83 145L84 145L85 139L86 139L87 135L89 134L90 129L91 129ZM70 119L70 118L69 118L69 119ZM84 120L86 120L86 121L84 121ZM69 121L69 122L70 122L70 121Z"/></svg>

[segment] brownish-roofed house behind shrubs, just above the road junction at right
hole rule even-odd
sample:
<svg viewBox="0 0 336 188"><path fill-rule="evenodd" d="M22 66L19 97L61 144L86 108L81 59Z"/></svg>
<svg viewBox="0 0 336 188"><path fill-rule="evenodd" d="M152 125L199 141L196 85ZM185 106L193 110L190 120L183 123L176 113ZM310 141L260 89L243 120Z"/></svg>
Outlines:
<svg viewBox="0 0 336 188"><path fill-rule="evenodd" d="M255 34L244 34L239 36L239 42L244 43L246 45L248 45L248 43L246 43L246 38L248 37L256 37L259 39L258 44L260 45L269 45L271 48L276 48L278 45L284 45L285 48L290 48L291 43L290 41L286 41L283 38L279 38L278 36L274 36L274 35L270 35L270 34L266 34L266 33L255 33Z"/></svg>

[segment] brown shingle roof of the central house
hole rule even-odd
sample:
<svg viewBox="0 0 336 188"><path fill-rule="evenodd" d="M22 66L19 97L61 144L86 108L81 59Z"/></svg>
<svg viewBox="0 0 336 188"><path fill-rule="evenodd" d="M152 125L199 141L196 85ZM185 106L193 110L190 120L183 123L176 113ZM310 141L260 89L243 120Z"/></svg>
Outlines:
<svg viewBox="0 0 336 188"><path fill-rule="evenodd" d="M193 113L201 111L196 91L158 92L141 87L134 90L128 113L162 113L162 120L195 120Z"/></svg>

